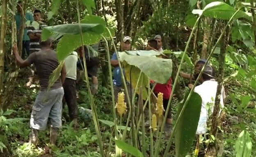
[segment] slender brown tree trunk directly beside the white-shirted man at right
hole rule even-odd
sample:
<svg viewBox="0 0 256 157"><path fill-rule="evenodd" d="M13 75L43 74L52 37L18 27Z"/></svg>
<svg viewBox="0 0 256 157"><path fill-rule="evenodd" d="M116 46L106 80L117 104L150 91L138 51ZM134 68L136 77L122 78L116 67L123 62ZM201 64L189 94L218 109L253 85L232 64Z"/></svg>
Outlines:
<svg viewBox="0 0 256 157"><path fill-rule="evenodd" d="M225 62L225 51L226 51L226 34L222 37L221 46L220 46L220 55L219 55L219 77L218 77L218 86L217 93L215 97L214 110L211 121L210 134L215 137L214 142L209 143L205 157L216 157L217 156L217 133L219 125L219 111L220 111L220 98L222 95L223 87L223 77L224 77L224 62Z"/></svg>

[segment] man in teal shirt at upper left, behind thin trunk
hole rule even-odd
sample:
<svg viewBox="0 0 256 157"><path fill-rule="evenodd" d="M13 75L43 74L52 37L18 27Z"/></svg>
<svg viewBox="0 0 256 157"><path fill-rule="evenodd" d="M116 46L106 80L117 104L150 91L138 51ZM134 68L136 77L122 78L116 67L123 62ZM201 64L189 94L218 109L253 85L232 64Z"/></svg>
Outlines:
<svg viewBox="0 0 256 157"><path fill-rule="evenodd" d="M23 10L22 10L22 6L23 6L23 2L21 1L18 1L17 3L17 14L15 15L15 21L16 21L16 25L17 25L17 41L20 39L19 38L19 32L20 32L20 28L21 28L21 20L22 20L22 13L23 13ZM25 21L24 21L24 25L25 25L25 22L27 20L30 20L30 21L34 21L34 17L32 14L30 13L25 13ZM20 41L18 41L20 42ZM27 28L24 27L24 32L23 32L23 40L22 40L22 52L21 52L21 58L22 59L25 59L25 53L27 53L27 56L29 56L30 54L30 38L28 37L27 35Z"/></svg>

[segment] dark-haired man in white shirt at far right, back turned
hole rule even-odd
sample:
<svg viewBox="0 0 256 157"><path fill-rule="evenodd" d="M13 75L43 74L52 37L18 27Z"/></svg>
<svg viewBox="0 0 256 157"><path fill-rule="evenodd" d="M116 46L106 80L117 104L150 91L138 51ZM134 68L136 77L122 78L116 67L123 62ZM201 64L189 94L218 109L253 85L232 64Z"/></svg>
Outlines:
<svg viewBox="0 0 256 157"><path fill-rule="evenodd" d="M200 71L201 71L201 68L200 68ZM197 134L205 134L207 132L206 122L207 122L207 119L209 118L209 115L213 113L218 82L212 79L213 78L212 75L213 75L213 68L210 65L206 65L206 67L204 68L203 74L200 77L200 82L202 84L194 88L194 92L198 93L202 98L202 107L201 107L201 113L200 113L199 123L197 127ZM223 93L224 93L224 88L222 87L222 93L220 94L220 97L221 97L220 112L224 107Z"/></svg>

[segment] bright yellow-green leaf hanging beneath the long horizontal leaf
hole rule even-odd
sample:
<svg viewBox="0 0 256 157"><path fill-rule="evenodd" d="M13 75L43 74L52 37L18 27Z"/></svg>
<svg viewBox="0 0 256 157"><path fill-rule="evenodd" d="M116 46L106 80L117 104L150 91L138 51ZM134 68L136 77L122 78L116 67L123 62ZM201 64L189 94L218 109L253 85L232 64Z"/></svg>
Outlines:
<svg viewBox="0 0 256 157"><path fill-rule="evenodd" d="M101 35L96 33L85 32L82 34L83 44L91 45L101 40ZM71 52L81 46L80 34L65 34L57 45L57 57L63 61Z"/></svg>

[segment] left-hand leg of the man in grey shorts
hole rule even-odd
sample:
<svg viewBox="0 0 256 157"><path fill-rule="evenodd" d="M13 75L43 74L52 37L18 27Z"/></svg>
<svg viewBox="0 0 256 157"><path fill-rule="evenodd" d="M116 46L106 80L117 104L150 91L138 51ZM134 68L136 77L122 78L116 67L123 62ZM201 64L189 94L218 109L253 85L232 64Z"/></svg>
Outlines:
<svg viewBox="0 0 256 157"><path fill-rule="evenodd" d="M30 117L30 139L29 143L37 145L39 130L46 130L48 116L53 105L54 96L46 91L39 91Z"/></svg>

